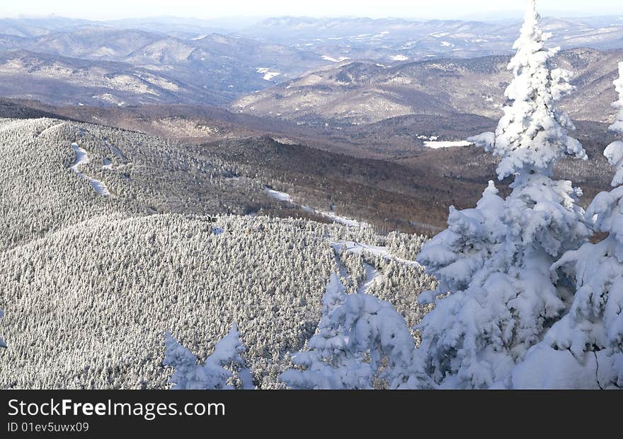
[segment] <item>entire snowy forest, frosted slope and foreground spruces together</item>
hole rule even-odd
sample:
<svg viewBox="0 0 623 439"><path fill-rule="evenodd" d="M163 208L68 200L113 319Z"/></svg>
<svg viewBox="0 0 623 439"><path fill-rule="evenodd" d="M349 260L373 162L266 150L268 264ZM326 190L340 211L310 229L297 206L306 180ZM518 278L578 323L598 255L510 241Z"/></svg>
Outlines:
<svg viewBox="0 0 623 439"><path fill-rule="evenodd" d="M0 119L0 388L622 389L623 62L612 190L583 209L554 180L588 156L550 37L529 1L503 117L468 139L497 175L430 239L258 214L279 182L173 141Z"/></svg>

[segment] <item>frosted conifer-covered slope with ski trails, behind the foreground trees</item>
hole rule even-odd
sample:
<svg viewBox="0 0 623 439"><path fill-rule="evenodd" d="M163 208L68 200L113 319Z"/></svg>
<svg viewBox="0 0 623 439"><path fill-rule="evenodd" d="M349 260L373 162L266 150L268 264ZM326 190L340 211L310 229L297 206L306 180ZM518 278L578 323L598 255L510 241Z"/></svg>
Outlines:
<svg viewBox="0 0 623 439"><path fill-rule="evenodd" d="M415 257L422 238L244 216L253 199L288 197L187 145L0 119L0 160L0 388L166 388L165 332L203 360L232 322L254 385L280 387L338 264L349 292L375 291L413 324L421 315L406 304L434 286L387 259ZM333 242L385 256L338 257Z"/></svg>

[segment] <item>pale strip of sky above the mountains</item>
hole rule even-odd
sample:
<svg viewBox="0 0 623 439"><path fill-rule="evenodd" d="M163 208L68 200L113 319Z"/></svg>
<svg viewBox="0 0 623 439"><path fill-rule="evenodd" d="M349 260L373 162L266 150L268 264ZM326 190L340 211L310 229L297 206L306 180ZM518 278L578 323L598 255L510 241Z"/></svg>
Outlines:
<svg viewBox="0 0 623 439"><path fill-rule="evenodd" d="M92 20L176 16L366 16L371 18L477 18L525 8L525 0L1 0L0 16L55 14ZM540 11L565 16L623 16L621 0L537 0Z"/></svg>

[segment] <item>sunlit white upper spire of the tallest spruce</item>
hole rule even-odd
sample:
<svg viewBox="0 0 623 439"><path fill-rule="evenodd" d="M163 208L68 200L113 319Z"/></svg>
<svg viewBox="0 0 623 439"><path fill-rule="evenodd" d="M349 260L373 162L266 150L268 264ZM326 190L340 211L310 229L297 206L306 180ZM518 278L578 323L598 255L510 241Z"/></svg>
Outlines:
<svg viewBox="0 0 623 439"><path fill-rule="evenodd" d="M521 35L513 45L517 54L508 64L514 78L505 95L513 104L504 107L495 144L488 145L502 158L500 180L524 171L551 175L556 160L566 154L588 158L581 144L566 133L575 128L571 119L554 105L572 87L568 71L550 68L550 59L559 50L545 47L550 36L539 26L535 1L530 0Z"/></svg>

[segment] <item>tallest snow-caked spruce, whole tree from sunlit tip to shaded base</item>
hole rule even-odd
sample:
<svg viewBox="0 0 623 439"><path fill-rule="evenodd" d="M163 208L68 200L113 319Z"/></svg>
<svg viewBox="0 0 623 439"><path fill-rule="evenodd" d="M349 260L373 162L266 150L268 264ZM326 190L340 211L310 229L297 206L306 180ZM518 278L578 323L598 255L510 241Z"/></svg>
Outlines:
<svg viewBox="0 0 623 439"><path fill-rule="evenodd" d="M513 104L494 135L474 139L501 157L498 177L515 177L512 193L502 200L490 185L476 209L452 209L448 230L418 257L440 280L423 300L448 297L420 326L416 369L428 380L410 386L486 388L508 381L568 308L571 281L549 267L590 232L576 205L581 191L551 175L559 158L586 154L567 135L571 121L556 110L556 100L571 88L569 74L550 69L555 50L544 47L549 35L538 18L530 1L508 66L514 78L506 95Z"/></svg>

